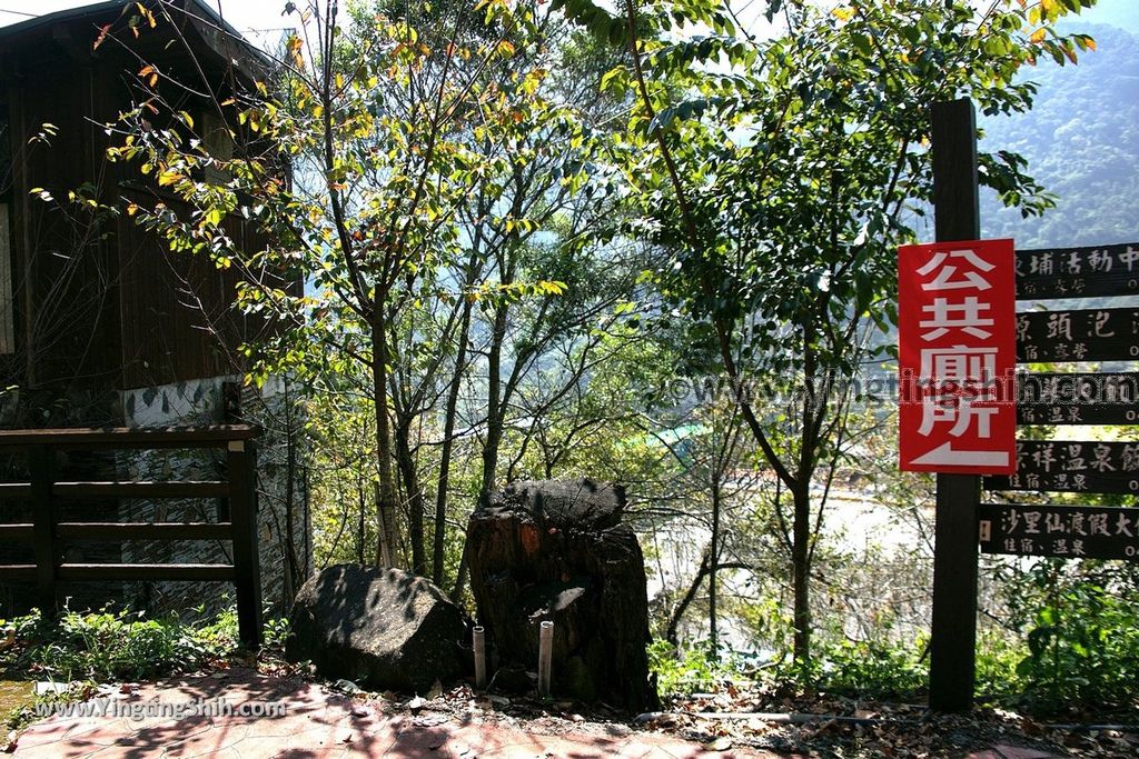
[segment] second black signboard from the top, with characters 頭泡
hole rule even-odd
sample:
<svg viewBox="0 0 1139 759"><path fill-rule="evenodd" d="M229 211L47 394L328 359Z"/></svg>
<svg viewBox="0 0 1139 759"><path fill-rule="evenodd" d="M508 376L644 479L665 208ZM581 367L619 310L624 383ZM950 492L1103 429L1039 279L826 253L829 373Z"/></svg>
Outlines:
<svg viewBox="0 0 1139 759"><path fill-rule="evenodd" d="M1134 361L1139 308L1032 311L1016 315L1016 360Z"/></svg>

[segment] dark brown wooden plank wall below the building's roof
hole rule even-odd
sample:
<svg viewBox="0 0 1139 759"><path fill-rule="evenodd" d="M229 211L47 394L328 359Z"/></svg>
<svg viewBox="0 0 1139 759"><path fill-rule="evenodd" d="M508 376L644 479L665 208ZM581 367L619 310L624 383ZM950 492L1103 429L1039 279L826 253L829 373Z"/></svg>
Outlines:
<svg viewBox="0 0 1139 759"><path fill-rule="evenodd" d="M236 270L220 272L204 256L171 253L125 214L92 224L67 201L69 190L90 183L104 203L153 206L161 199L182 207L137 166L106 162L112 138L99 124L137 100L128 81L140 58L161 59L164 71L187 76L198 76L199 68L185 48L155 35L137 43L128 35L134 50L108 42L92 51L97 31L82 19L0 44L0 86L11 123L18 345L6 372L0 360L0 381L113 390L238 373L237 347L252 323L231 308ZM213 49L200 51L215 91L230 79L219 61ZM182 107L200 113L206 104ZM44 122L57 130L50 145L28 145ZM56 203L31 196L33 188L48 190ZM263 242L241 218L226 223L240 244Z"/></svg>

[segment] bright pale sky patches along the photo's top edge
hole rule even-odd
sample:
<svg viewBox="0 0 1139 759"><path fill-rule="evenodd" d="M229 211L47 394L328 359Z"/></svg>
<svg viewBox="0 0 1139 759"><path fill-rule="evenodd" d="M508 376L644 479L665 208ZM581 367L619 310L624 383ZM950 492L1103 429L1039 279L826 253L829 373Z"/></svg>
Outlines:
<svg viewBox="0 0 1139 759"><path fill-rule="evenodd" d="M253 42L280 39L282 28L296 23L296 15L282 16L286 0L206 0L235 28ZM296 0L303 6L305 0ZM474 0L472 0L474 2ZM740 6L762 3L763 0L740 2ZM0 26L18 24L32 16L91 5L91 0L0 0ZM735 5L735 3L734 3ZM1099 0L1085 10L1081 19L1095 24L1111 24L1139 33L1139 2L1137 0Z"/></svg>

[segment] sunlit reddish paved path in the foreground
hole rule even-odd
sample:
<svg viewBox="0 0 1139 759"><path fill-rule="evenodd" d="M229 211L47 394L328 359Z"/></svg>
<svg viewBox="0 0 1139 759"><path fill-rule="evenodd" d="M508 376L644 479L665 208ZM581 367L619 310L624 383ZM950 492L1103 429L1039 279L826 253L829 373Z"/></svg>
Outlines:
<svg viewBox="0 0 1139 759"><path fill-rule="evenodd" d="M775 757L743 751L706 752L699 744L620 725L559 735L526 733L497 724L478 711L419 716L384 713L382 704L362 703L311 683L233 673L144 685L115 693L118 711L93 716L57 715L33 724L19 737L22 759L80 757L454 757L458 759L603 757L688 759L696 757ZM192 712L147 716L147 704L191 704L222 699L238 706L284 703L284 715L246 717ZM89 702L90 703L90 702ZM107 702L109 704L109 701ZM169 707L165 707L169 709ZM110 707L108 706L108 711ZM133 713L130 710L137 710ZM139 716L141 719L134 719ZM596 726L595 726L596 727Z"/></svg>

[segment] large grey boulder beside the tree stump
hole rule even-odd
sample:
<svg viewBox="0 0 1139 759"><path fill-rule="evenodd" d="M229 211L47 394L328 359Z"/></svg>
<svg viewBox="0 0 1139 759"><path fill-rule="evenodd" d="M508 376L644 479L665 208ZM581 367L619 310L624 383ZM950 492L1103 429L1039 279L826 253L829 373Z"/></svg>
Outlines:
<svg viewBox="0 0 1139 759"><path fill-rule="evenodd" d="M309 579L289 614L285 655L329 679L377 691L427 692L465 669L462 612L399 569L337 564Z"/></svg>

